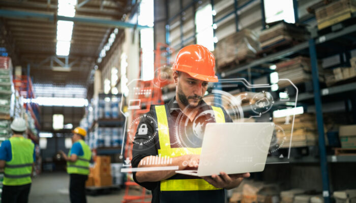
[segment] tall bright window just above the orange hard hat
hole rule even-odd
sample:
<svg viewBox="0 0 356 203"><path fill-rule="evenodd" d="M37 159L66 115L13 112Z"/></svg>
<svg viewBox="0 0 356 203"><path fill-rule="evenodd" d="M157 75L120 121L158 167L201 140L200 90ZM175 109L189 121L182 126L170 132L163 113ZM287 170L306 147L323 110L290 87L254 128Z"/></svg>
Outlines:
<svg viewBox="0 0 356 203"><path fill-rule="evenodd" d="M203 45L210 51L214 51L214 42L216 43L218 40L217 38L214 38L213 11L211 4L206 5L196 12L195 24L197 44Z"/></svg>

